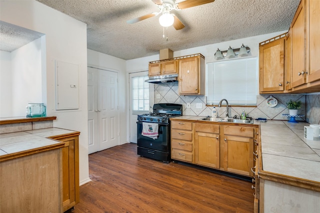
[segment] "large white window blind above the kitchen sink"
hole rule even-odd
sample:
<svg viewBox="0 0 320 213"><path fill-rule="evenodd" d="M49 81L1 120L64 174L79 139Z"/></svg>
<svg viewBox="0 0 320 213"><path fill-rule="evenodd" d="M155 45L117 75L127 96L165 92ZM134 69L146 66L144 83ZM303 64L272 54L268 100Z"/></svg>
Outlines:
<svg viewBox="0 0 320 213"><path fill-rule="evenodd" d="M225 98L233 105L255 105L257 70L257 57L207 63L207 104L218 104Z"/></svg>

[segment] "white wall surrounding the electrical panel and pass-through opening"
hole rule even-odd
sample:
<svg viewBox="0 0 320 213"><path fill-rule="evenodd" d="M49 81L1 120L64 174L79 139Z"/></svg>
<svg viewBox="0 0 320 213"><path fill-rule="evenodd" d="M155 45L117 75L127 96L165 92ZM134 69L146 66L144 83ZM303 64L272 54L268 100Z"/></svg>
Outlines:
<svg viewBox="0 0 320 213"><path fill-rule="evenodd" d="M80 131L79 179L89 181L87 150L87 57L86 24L35 0L1 0L0 20L45 34L47 115L56 116L53 125ZM43 42L43 40L41 41ZM55 110L54 60L79 65L79 103L77 110ZM43 87L43 85L42 85ZM42 99L43 99L42 98Z"/></svg>

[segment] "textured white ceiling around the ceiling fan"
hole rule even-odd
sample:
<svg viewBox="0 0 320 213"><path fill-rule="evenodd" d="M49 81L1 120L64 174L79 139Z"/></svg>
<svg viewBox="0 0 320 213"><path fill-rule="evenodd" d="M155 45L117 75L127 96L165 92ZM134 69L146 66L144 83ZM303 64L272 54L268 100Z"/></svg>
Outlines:
<svg viewBox="0 0 320 213"><path fill-rule="evenodd" d="M157 12L151 0L38 0L87 24L87 48L123 59L287 30L300 0L215 0L171 12L185 27L165 29L159 16L134 24L126 20ZM182 0L175 0L180 2Z"/></svg>

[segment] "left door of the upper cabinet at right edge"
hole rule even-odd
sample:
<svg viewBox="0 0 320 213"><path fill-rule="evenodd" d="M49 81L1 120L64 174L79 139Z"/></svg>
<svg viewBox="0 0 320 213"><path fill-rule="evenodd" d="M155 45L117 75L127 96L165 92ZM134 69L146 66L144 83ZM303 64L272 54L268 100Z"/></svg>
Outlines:
<svg viewBox="0 0 320 213"><path fill-rule="evenodd" d="M292 83L295 87L305 83L305 0L302 0L291 23L292 32Z"/></svg>

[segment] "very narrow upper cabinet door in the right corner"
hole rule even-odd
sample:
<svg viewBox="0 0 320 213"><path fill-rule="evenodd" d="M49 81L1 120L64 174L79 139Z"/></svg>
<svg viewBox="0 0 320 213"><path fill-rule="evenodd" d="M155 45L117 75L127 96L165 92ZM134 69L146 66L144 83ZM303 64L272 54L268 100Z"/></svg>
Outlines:
<svg viewBox="0 0 320 213"><path fill-rule="evenodd" d="M291 89L291 74L292 74L292 43L291 29L289 29L285 37L285 90Z"/></svg>

